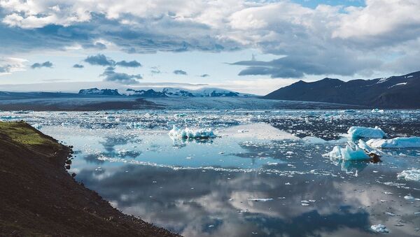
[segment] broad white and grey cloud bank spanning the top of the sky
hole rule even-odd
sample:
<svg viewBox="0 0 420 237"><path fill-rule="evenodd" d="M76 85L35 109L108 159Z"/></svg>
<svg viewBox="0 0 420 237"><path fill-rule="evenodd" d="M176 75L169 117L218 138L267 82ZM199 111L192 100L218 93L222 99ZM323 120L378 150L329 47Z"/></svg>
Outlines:
<svg viewBox="0 0 420 237"><path fill-rule="evenodd" d="M241 75L399 72L401 60L389 55L420 59L420 48L407 46L419 41L419 11L415 0L314 8L293 1L155 0L141 6L136 1L0 1L0 51L71 45L99 50L112 45L137 53L255 48L281 60L249 65Z"/></svg>

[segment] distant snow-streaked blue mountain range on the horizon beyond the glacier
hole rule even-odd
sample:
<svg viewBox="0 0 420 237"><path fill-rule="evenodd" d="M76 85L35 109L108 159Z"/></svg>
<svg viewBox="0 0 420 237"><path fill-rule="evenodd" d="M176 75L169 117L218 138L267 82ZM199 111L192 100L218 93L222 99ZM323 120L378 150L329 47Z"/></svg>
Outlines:
<svg viewBox="0 0 420 237"><path fill-rule="evenodd" d="M118 89L80 89L78 94L83 95L104 95L104 96L139 96L145 98L160 97L251 97L253 94L244 94L232 92L227 89L220 88L202 88L202 89L183 89L165 87L162 89L126 89L125 92L118 92Z"/></svg>

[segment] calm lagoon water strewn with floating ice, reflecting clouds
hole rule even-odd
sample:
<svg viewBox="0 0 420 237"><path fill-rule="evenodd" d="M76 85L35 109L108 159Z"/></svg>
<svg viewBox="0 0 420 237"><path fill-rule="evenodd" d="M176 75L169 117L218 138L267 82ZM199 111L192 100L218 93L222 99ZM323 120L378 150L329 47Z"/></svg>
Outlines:
<svg viewBox="0 0 420 237"><path fill-rule="evenodd" d="M183 236L420 236L420 110L1 111L0 120L73 145L78 182Z"/></svg>

